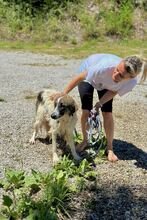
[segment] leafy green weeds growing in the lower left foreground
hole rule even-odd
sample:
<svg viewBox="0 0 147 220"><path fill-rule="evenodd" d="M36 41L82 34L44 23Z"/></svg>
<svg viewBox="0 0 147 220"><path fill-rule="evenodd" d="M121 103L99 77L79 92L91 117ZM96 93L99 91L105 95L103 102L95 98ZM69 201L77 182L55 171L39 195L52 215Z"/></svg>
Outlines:
<svg viewBox="0 0 147 220"><path fill-rule="evenodd" d="M92 171L86 160L76 166L66 156L48 173L6 170L0 181L4 190L1 212L9 219L71 219L70 200L86 188Z"/></svg>

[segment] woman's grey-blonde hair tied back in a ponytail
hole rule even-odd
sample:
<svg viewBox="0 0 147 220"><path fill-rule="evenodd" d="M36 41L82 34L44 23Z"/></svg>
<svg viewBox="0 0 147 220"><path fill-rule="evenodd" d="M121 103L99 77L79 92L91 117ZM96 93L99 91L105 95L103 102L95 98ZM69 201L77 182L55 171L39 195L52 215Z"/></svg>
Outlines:
<svg viewBox="0 0 147 220"><path fill-rule="evenodd" d="M138 55L124 58L125 68L132 77L141 75L140 83L143 83L147 78L147 59Z"/></svg>

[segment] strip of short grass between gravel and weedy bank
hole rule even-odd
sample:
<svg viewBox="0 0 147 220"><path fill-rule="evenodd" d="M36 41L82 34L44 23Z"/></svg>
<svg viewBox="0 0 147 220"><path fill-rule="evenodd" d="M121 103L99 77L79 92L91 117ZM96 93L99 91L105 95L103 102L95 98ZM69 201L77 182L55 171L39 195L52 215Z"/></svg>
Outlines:
<svg viewBox="0 0 147 220"><path fill-rule="evenodd" d="M65 58L84 58L94 53L113 53L119 56L140 54L147 57L147 43L141 40L90 40L82 44L72 45L66 43L30 43L23 41L1 41L0 50L30 51L34 53L47 53L62 55Z"/></svg>

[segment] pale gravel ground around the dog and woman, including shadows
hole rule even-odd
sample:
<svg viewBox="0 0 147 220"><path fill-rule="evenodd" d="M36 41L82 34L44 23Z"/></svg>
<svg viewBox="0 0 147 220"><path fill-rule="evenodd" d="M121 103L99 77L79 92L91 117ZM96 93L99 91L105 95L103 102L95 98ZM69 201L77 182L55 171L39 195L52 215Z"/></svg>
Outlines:
<svg viewBox="0 0 147 220"><path fill-rule="evenodd" d="M4 99L0 102L0 178L6 167L23 167L27 172L51 168L51 151L46 144L28 143L35 118L35 99L31 97L42 88L61 91L80 62L44 54L0 52L0 98ZM71 94L80 106L77 89ZM147 219L147 83L115 98L114 118L114 149L120 160L99 164L95 190L89 189L81 195L83 199L75 201L75 220Z"/></svg>

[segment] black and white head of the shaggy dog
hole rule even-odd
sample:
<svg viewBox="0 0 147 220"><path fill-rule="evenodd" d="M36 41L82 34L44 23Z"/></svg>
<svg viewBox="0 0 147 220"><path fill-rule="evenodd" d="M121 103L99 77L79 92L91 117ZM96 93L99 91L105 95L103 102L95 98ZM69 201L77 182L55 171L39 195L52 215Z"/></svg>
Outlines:
<svg viewBox="0 0 147 220"><path fill-rule="evenodd" d="M55 102L55 109L51 114L51 118L58 119L63 115L73 116L73 114L78 110L75 100L69 96L65 95L60 97Z"/></svg>

